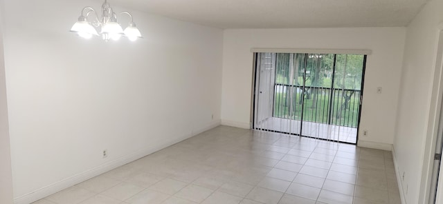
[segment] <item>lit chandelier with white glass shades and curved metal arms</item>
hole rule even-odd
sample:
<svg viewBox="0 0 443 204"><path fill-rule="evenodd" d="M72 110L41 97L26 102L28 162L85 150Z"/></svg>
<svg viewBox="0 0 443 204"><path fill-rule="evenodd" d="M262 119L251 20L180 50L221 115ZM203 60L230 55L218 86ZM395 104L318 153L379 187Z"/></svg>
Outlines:
<svg viewBox="0 0 443 204"><path fill-rule="evenodd" d="M93 14L95 18L93 18L93 21L88 21L88 17L91 14ZM130 41L141 38L141 33L136 28L136 23L134 23L132 19L132 14L126 11L120 14L127 14L131 18L125 30L117 23L117 14L107 0L102 4L102 17L100 17L100 19L96 10L87 6L82 9L82 14L78 17L78 21L74 23L70 31L77 33L78 36L84 39L90 39L93 36L100 35L105 41L109 41L109 39L118 40L122 36L127 37Z"/></svg>

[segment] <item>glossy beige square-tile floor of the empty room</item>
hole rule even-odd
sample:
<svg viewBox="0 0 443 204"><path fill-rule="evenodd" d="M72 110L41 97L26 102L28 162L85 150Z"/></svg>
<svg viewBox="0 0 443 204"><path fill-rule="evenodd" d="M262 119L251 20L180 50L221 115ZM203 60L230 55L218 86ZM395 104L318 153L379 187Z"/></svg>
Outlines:
<svg viewBox="0 0 443 204"><path fill-rule="evenodd" d="M219 126L36 203L401 203L392 154Z"/></svg>

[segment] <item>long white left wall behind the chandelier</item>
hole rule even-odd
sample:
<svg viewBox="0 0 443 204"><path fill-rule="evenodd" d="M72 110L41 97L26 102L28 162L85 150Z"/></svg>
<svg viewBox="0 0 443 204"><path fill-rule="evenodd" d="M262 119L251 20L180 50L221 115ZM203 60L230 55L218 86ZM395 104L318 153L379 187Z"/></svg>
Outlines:
<svg viewBox="0 0 443 204"><path fill-rule="evenodd" d="M219 124L222 30L131 10L144 37L134 43L68 32L84 6L101 3L5 2L17 203Z"/></svg>

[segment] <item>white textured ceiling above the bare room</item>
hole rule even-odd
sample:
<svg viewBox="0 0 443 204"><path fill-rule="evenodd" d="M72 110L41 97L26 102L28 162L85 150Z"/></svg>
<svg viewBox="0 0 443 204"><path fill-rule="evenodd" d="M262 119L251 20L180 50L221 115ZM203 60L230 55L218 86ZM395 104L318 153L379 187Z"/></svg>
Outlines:
<svg viewBox="0 0 443 204"><path fill-rule="evenodd" d="M215 28L407 26L428 0L108 0Z"/></svg>

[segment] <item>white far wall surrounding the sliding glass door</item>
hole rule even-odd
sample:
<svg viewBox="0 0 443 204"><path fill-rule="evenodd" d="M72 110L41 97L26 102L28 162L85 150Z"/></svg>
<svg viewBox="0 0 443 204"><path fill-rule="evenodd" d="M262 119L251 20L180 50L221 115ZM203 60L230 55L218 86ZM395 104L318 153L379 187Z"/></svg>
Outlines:
<svg viewBox="0 0 443 204"><path fill-rule="evenodd" d="M248 128L251 114L251 48L372 50L365 72L359 145L390 148L404 51L405 28L225 30L221 122ZM377 94L377 87L383 92Z"/></svg>

